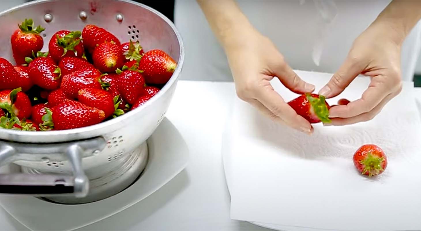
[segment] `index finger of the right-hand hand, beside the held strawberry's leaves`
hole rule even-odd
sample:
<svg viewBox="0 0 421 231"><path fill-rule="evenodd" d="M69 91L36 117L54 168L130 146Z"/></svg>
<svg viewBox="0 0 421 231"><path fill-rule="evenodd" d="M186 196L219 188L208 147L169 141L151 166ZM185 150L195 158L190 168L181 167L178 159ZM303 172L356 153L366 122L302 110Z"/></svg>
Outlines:
<svg viewBox="0 0 421 231"><path fill-rule="evenodd" d="M347 105L338 105L329 110L329 117L350 118L367 113L373 110L388 94L388 88L385 83L371 84L367 90L362 93L362 97Z"/></svg>

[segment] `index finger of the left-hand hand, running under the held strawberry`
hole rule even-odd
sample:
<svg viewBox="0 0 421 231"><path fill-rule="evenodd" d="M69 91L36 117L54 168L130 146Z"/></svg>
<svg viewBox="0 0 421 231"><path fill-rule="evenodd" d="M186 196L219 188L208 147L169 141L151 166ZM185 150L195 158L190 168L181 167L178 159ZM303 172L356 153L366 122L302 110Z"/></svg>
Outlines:
<svg viewBox="0 0 421 231"><path fill-rule="evenodd" d="M273 88L259 89L256 92L256 99L288 125L301 129L305 132L312 131L312 126L309 121L299 116Z"/></svg>

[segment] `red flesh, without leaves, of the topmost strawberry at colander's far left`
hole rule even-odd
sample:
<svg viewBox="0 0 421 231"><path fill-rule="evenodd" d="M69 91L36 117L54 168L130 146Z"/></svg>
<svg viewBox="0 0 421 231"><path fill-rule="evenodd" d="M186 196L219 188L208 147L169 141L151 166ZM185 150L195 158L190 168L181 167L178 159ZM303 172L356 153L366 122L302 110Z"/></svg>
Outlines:
<svg viewBox="0 0 421 231"><path fill-rule="evenodd" d="M25 33L15 30L11 37L13 58L16 65L26 64L25 57L32 57L32 51L37 54L44 46L43 37L36 33Z"/></svg>

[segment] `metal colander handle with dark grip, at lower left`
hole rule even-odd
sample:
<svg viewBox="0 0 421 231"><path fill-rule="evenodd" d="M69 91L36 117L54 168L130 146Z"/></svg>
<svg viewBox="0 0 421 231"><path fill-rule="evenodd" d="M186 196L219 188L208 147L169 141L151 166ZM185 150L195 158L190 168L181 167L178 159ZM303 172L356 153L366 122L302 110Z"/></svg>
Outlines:
<svg viewBox="0 0 421 231"><path fill-rule="evenodd" d="M72 165L73 176L0 174L0 193L34 196L60 196L73 194L85 197L89 192L89 179L82 168L82 157L91 156L105 147L105 140L97 137L60 144L22 144L0 141L0 166L18 160L42 161L48 153L64 154ZM60 154L61 153L61 154Z"/></svg>

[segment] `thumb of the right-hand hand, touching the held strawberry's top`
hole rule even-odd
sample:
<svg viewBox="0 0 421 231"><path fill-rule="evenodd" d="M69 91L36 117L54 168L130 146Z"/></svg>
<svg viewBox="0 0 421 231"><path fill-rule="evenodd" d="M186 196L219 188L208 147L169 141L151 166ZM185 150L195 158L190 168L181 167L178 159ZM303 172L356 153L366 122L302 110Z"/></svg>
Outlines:
<svg viewBox="0 0 421 231"><path fill-rule="evenodd" d="M355 60L355 59L354 59ZM319 91L320 95L332 98L340 94L351 83L357 75L362 73L364 67L357 61L347 58L333 74L329 82Z"/></svg>

